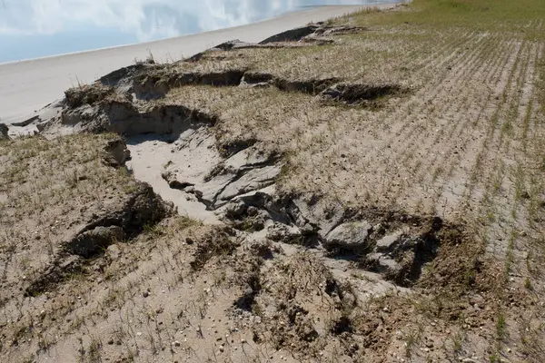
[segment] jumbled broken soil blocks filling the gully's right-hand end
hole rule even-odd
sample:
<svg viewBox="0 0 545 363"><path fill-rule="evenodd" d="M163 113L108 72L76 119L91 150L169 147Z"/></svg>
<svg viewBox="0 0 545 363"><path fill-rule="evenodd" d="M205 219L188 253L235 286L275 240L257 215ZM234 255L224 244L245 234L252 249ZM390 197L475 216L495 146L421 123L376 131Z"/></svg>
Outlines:
<svg viewBox="0 0 545 363"><path fill-rule="evenodd" d="M248 230L259 221L260 227L253 231L267 231L270 240L320 246L329 258L352 260L404 287L420 279L422 269L435 259L442 243L460 242L451 240L451 236L460 235L451 232L459 227L446 225L438 217L356 210L341 211L335 221L319 211L320 204L309 209L301 199L290 201L257 191L233 198L220 211L238 228Z"/></svg>

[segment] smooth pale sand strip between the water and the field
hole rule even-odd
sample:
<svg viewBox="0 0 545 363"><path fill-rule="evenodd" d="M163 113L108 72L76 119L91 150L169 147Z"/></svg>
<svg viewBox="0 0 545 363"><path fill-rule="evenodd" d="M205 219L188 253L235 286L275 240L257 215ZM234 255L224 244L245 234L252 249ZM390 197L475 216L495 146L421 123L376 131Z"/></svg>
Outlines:
<svg viewBox="0 0 545 363"><path fill-rule="evenodd" d="M377 5L381 6L381 5ZM392 5L383 5L392 6ZM362 6L318 7L283 15L253 25L243 25L202 34L187 35L146 44L134 44L78 54L65 54L10 64L0 64L0 120L15 123L60 98L65 89L93 82L100 76L150 53L158 61L176 61L215 44L241 39L263 39L312 21L350 13Z"/></svg>

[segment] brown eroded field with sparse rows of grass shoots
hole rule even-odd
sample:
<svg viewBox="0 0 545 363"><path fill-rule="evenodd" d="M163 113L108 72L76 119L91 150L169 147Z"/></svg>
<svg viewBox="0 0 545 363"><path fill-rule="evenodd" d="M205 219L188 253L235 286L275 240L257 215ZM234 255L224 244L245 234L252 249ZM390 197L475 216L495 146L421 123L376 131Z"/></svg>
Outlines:
<svg viewBox="0 0 545 363"><path fill-rule="evenodd" d="M140 212L114 206L142 185L104 165L112 136L2 141L1 357L540 362L543 19L540 0L417 0L70 90L45 132L181 132L154 140L163 178L227 226L144 193L163 221L128 233L114 217ZM214 164L184 180L195 145Z"/></svg>

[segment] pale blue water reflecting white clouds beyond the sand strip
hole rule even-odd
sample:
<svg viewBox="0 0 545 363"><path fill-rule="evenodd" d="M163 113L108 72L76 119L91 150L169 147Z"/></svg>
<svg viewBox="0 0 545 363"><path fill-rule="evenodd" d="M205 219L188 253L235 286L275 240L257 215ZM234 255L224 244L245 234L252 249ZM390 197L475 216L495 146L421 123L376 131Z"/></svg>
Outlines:
<svg viewBox="0 0 545 363"><path fill-rule="evenodd" d="M244 25L305 6L391 0L0 0L0 63Z"/></svg>

